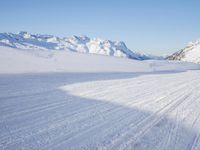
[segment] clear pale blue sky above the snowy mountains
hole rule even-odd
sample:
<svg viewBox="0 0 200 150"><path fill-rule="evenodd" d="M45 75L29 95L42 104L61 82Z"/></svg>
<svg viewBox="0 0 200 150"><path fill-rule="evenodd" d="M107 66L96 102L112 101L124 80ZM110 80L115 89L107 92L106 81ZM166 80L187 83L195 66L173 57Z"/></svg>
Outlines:
<svg viewBox="0 0 200 150"><path fill-rule="evenodd" d="M200 0L1 0L0 32L87 35L170 54L200 38Z"/></svg>

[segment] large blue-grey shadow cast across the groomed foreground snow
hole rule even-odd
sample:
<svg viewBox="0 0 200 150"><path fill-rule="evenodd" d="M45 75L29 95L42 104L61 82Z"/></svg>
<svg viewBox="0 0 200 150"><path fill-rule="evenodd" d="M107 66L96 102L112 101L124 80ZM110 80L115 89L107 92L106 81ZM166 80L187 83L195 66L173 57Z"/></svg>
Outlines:
<svg viewBox="0 0 200 150"><path fill-rule="evenodd" d="M161 73L166 74L158 72ZM190 149L198 132L178 125L172 119L134 107L70 95L57 89L76 82L149 74L152 73L0 76L0 149L108 148L133 139L139 132L137 124L148 117L157 120L157 123L138 141L130 142L131 148Z"/></svg>

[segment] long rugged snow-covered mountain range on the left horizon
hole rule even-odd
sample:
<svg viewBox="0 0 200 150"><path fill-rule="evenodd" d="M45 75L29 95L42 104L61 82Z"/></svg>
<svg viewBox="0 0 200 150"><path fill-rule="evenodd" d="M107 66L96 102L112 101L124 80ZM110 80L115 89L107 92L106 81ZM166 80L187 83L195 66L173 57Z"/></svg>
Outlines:
<svg viewBox="0 0 200 150"><path fill-rule="evenodd" d="M0 45L18 49L70 50L108 56L127 57L137 60L150 57L127 48L124 42L101 40L87 36L56 37L52 35L30 34L28 32L0 33Z"/></svg>

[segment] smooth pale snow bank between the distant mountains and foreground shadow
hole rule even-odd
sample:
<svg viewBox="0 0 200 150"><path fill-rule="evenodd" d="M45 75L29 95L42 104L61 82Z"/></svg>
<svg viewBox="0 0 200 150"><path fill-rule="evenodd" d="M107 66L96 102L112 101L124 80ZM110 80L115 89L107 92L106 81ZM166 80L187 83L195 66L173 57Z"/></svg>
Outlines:
<svg viewBox="0 0 200 150"><path fill-rule="evenodd" d="M200 69L193 63L133 59L73 53L20 50L0 46L0 73L41 72L157 72Z"/></svg>

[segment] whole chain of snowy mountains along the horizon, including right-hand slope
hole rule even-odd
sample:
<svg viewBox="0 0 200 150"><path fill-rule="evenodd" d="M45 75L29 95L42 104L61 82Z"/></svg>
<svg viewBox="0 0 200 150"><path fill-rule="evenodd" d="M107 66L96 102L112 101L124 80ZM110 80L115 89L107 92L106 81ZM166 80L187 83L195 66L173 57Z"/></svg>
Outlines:
<svg viewBox="0 0 200 150"><path fill-rule="evenodd" d="M122 41L91 39L87 36L60 38L53 35L30 34L28 32L19 32L18 34L0 33L0 46L25 50L64 50L135 60L164 59L163 57L144 55L130 50ZM200 40L190 42L185 48L166 59L200 63Z"/></svg>

